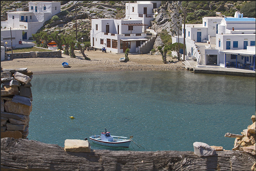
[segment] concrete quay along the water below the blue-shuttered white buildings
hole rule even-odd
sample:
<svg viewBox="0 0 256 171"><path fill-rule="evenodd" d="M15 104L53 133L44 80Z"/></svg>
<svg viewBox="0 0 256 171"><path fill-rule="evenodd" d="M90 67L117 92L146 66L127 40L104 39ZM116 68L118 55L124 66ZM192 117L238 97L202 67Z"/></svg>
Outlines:
<svg viewBox="0 0 256 171"><path fill-rule="evenodd" d="M233 67L220 67L214 65L203 65L198 67L197 62L194 60L186 60L183 62L186 65L186 69L194 73L207 73L207 74L222 74L222 75L231 75L231 76L247 76L255 77L255 71L245 70Z"/></svg>

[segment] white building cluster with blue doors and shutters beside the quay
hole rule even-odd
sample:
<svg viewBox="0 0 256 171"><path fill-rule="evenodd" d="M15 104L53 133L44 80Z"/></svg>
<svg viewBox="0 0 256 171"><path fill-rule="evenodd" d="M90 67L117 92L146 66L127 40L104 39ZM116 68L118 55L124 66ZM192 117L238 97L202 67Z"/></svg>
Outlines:
<svg viewBox="0 0 256 171"><path fill-rule="evenodd" d="M255 50L251 51L249 47L255 47L255 24L255 18L243 17L239 11L236 11L234 17L203 17L202 24L185 26L185 54L196 58L198 67L209 64L226 67L226 62L230 62L236 68L243 64L244 67L240 68L244 69L245 63L249 62L255 68ZM181 43L183 36L184 28ZM177 36L173 37L172 42L178 42ZM249 65L246 64L247 69Z"/></svg>

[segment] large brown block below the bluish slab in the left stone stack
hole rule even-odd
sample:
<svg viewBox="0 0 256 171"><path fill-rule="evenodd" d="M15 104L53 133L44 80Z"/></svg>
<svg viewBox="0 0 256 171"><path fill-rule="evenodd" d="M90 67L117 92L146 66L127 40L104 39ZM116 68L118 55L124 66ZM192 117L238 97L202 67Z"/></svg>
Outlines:
<svg viewBox="0 0 256 171"><path fill-rule="evenodd" d="M6 112L29 115L32 111L32 105L27 106L25 104L14 103L13 101L6 101L4 104Z"/></svg>

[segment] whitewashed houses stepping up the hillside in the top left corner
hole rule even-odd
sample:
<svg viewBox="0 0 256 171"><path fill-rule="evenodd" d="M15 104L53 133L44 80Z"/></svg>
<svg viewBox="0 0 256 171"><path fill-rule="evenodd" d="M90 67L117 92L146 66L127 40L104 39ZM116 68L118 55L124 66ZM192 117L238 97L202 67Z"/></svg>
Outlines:
<svg viewBox="0 0 256 171"><path fill-rule="evenodd" d="M58 14L60 2L31 1L28 3L29 11L7 12L7 21L1 21L1 41L11 46L10 28L13 37L13 47L24 47L23 40L28 40L55 14ZM15 40L15 41L14 41ZM29 44L29 43L27 43ZM32 44L31 44L32 45ZM31 46L30 45L30 46Z"/></svg>

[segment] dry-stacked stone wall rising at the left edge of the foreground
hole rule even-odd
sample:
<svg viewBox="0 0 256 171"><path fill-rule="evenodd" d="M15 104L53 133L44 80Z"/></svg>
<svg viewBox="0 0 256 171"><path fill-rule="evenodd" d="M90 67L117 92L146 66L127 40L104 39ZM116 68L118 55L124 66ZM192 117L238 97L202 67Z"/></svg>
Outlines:
<svg viewBox="0 0 256 171"><path fill-rule="evenodd" d="M1 138L26 138L32 111L31 79L27 68L1 67Z"/></svg>

